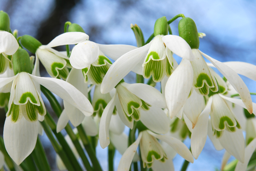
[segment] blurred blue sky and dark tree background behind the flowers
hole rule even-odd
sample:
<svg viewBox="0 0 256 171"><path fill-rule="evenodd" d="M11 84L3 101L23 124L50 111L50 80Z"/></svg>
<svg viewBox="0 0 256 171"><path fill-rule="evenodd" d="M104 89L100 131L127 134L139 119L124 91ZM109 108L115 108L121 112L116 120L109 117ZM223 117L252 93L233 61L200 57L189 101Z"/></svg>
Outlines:
<svg viewBox="0 0 256 171"><path fill-rule="evenodd" d="M256 1L254 0L0 0L0 10L9 14L11 29L19 36L36 37L43 45L64 31L66 21L84 28L90 40L101 44L135 45L135 36L130 24L137 24L144 32L145 40L154 31L156 19L166 16L169 20L177 14L192 18L199 32L206 37L200 39L200 50L209 56L224 61L243 61L256 65ZM171 24L172 33L178 35L178 22ZM57 48L65 50L64 47ZM175 57L179 62L181 59ZM40 66L41 76L48 76ZM256 82L244 76L242 79L251 92L256 92ZM126 76L134 82L135 74ZM158 85L159 87L159 85ZM253 102L256 102L256 98ZM47 103L46 103L47 104ZM47 107L50 110L49 104ZM3 133L4 112L0 115L0 133ZM65 132L63 132L65 134ZM42 136L52 169L55 152L47 137ZM186 139L185 144L190 145ZM215 171L221 165L224 151L216 151L209 139L187 171ZM107 170L107 149L98 145L97 155L104 170ZM121 154L116 152L115 170ZM180 170L184 159L176 156L175 170Z"/></svg>

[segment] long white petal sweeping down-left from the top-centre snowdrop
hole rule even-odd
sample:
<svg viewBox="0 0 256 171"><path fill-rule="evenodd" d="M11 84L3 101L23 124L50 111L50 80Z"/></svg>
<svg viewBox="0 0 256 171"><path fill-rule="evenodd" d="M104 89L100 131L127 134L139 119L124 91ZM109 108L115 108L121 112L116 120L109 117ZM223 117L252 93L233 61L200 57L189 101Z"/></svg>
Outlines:
<svg viewBox="0 0 256 171"><path fill-rule="evenodd" d="M123 79L135 65L141 61L141 59L146 57L150 45L151 43L148 43L147 45L131 50L118 58L108 69L107 74L102 81L101 92L103 94L110 92L121 79Z"/></svg>

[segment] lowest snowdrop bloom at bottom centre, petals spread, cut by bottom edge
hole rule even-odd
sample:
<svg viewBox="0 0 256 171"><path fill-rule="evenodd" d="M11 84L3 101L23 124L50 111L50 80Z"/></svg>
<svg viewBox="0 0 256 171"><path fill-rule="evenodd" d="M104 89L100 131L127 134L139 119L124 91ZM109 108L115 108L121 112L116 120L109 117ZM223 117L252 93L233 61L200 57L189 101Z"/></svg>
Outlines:
<svg viewBox="0 0 256 171"><path fill-rule="evenodd" d="M143 162L143 166L148 168L154 166L155 161L166 162L167 155L163 150L162 145L158 142L158 139L169 144L178 154L180 154L187 161L193 163L194 158L186 147L179 139L176 139L168 135L158 135L150 130L143 130L140 132L136 141L127 148L126 152L122 155L119 162L117 171L128 171L132 158L140 144L140 154ZM169 168L170 169L170 168Z"/></svg>

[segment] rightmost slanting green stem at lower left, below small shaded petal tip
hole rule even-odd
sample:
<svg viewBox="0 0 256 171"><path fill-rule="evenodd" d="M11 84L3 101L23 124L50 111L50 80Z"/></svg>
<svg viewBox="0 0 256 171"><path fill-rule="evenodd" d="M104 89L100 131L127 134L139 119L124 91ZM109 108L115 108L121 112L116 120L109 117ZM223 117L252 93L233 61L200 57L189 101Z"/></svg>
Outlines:
<svg viewBox="0 0 256 171"><path fill-rule="evenodd" d="M86 151L91 159L91 162L93 163L94 170L102 171L102 168L98 162L98 158L96 157L93 147L89 143L88 137L84 131L83 126L80 124L79 126L77 126L77 130L78 130L79 136L84 144L84 148L86 149Z"/></svg>

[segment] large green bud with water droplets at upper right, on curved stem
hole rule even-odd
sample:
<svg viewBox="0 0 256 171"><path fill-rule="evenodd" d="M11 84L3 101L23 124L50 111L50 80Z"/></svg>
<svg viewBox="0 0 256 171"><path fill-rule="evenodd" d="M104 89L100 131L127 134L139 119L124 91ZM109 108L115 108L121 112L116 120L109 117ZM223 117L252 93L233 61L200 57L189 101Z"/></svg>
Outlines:
<svg viewBox="0 0 256 171"><path fill-rule="evenodd" d="M195 22L188 17L182 18L180 20L179 26L179 35L186 40L190 45L191 49L199 48L199 37L197 33L197 28Z"/></svg>

